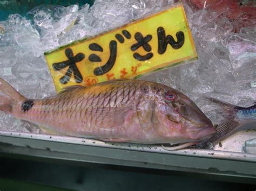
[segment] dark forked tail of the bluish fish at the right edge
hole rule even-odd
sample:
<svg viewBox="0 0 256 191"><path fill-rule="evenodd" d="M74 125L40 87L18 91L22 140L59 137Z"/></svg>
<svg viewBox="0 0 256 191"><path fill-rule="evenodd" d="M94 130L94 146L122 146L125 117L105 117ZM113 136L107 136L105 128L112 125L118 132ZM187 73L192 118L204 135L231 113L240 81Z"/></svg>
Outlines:
<svg viewBox="0 0 256 191"><path fill-rule="evenodd" d="M223 122L220 122L220 124L216 128L216 132L210 138L207 138L203 142L199 143L196 147L211 148L213 145L233 135L235 132L240 131L240 126L244 123L244 121L242 120L243 117L241 116L244 115L244 117L246 118L246 113L248 113L248 111L250 112L254 109L254 112L256 111L256 103L254 103L254 105L252 105L251 107L244 108L223 101L219 101L215 98L206 98L207 100L210 100L211 102L219 106L217 112L218 114L224 116L225 120Z"/></svg>

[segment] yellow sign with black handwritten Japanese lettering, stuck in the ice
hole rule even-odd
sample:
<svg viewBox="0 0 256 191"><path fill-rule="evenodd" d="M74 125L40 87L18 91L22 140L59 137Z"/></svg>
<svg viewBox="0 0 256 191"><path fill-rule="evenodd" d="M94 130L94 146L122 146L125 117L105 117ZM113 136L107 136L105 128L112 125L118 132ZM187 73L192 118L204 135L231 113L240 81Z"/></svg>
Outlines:
<svg viewBox="0 0 256 191"><path fill-rule="evenodd" d="M197 59L182 4L45 53L57 91Z"/></svg>

